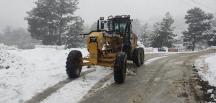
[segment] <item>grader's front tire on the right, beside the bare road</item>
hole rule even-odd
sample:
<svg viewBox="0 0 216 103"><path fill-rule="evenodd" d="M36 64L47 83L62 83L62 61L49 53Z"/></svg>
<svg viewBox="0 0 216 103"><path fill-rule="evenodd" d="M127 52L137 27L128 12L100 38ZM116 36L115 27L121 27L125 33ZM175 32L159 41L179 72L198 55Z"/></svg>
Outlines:
<svg viewBox="0 0 216 103"><path fill-rule="evenodd" d="M114 80L116 83L124 83L127 68L127 54L121 52L118 54L114 65Z"/></svg>

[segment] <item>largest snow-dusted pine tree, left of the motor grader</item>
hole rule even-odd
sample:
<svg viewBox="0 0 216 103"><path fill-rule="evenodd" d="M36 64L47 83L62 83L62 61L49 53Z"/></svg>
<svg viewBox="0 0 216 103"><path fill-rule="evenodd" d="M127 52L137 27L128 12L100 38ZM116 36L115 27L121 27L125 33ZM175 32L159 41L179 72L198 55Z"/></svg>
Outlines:
<svg viewBox="0 0 216 103"><path fill-rule="evenodd" d="M62 38L75 19L78 0L38 0L35 4L26 18L32 37L46 45L63 44Z"/></svg>

